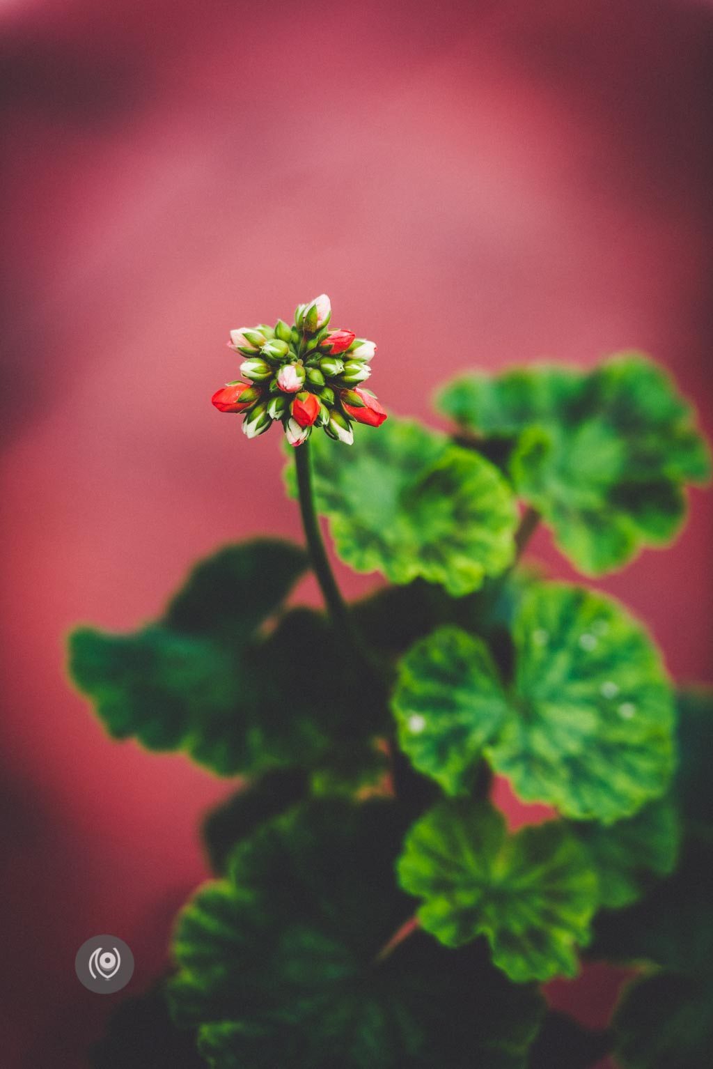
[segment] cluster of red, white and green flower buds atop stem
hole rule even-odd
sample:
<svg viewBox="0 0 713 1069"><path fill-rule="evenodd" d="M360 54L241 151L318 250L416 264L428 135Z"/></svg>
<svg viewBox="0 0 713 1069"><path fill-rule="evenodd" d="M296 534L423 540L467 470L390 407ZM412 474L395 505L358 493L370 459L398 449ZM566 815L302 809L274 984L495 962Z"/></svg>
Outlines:
<svg viewBox="0 0 713 1069"><path fill-rule="evenodd" d="M298 305L291 326L278 320L231 330L227 343L243 357L240 379L212 396L220 412L242 413L242 430L256 438L280 422L290 446L301 446L314 428L348 445L352 422L379 427L386 418L374 394L361 388L371 374L376 345L351 330L330 330L326 293Z"/></svg>

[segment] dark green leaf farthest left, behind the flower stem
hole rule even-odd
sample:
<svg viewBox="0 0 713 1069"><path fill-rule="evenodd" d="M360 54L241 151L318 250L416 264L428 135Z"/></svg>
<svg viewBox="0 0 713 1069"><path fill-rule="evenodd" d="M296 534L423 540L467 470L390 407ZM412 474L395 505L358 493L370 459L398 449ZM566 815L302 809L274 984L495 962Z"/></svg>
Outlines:
<svg viewBox="0 0 713 1069"><path fill-rule="evenodd" d="M155 623L75 631L75 683L113 738L186 750L223 775L311 765L352 732L361 743L380 726L381 701L321 616L283 613L305 564L283 542L222 549Z"/></svg>

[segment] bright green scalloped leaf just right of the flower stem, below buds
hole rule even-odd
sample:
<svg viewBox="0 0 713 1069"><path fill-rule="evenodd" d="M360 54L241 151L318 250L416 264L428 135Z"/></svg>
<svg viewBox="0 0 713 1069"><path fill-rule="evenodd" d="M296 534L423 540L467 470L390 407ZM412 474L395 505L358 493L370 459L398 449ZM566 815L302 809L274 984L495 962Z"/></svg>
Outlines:
<svg viewBox="0 0 713 1069"><path fill-rule="evenodd" d="M477 454L414 422L390 419L353 451L311 440L317 509L339 557L392 583L418 576L454 597L511 563L518 516L512 492ZM295 477L287 469L295 494Z"/></svg>

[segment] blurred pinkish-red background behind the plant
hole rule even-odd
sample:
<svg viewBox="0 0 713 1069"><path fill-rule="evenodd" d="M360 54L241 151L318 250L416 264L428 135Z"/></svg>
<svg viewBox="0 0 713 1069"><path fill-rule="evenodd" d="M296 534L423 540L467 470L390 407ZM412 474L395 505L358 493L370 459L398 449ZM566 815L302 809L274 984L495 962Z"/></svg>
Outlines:
<svg viewBox="0 0 713 1069"><path fill-rule="evenodd" d="M0 0L0 1050L84 1069L115 1000L77 947L125 939L127 992L160 972L231 786L110 744L63 636L137 625L226 540L299 537L278 438L209 404L227 329L327 291L382 402L434 423L472 365L637 346L710 431L713 6ZM712 526L694 493L675 548L599 584L681 681L711 680ZM532 553L571 574L546 533ZM592 1024L614 994L554 990Z"/></svg>

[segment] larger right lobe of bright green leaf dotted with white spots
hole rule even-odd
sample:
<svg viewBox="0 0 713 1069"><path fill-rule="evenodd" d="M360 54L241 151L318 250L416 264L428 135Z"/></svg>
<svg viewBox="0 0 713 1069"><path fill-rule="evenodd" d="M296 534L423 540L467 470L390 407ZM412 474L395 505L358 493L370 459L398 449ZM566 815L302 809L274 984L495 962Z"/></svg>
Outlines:
<svg viewBox="0 0 713 1069"><path fill-rule="evenodd" d="M660 796L674 769L674 701L644 628L603 594L539 584L513 640L514 715L486 755L516 793L603 823Z"/></svg>

